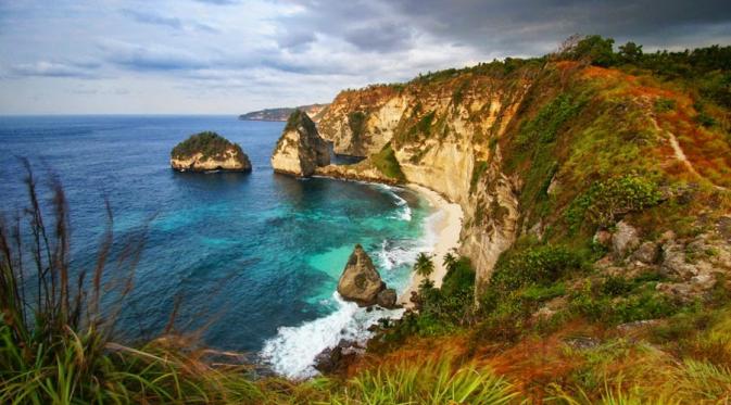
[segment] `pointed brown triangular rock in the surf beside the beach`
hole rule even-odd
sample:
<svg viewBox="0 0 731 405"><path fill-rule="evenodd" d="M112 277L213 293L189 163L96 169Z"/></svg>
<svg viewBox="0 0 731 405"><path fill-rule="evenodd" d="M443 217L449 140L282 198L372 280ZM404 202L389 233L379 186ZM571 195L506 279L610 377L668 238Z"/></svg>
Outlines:
<svg viewBox="0 0 731 405"><path fill-rule="evenodd" d="M338 281L338 293L345 301L356 302L360 306L370 306L378 301L378 293L386 283L376 270L373 261L360 244L355 245L348 264Z"/></svg>

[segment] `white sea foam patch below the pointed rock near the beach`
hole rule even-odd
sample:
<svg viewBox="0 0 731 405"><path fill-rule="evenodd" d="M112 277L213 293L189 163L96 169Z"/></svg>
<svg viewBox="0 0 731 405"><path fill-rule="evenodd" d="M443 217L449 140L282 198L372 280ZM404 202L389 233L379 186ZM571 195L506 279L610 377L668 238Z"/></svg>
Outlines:
<svg viewBox="0 0 731 405"><path fill-rule="evenodd" d="M280 327L277 336L265 342L262 359L275 372L291 379L306 379L318 372L315 357L325 349L335 347L341 339L365 343L371 332L368 327L382 317L401 317L403 309L366 312L357 304L332 294L338 308L323 318L297 327Z"/></svg>

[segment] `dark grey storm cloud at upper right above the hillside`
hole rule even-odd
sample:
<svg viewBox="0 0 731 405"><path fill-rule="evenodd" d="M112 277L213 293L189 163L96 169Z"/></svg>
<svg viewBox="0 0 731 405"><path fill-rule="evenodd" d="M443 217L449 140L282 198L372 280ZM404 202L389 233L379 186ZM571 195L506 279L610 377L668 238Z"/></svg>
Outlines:
<svg viewBox="0 0 731 405"><path fill-rule="evenodd" d="M653 46L731 22L731 5L719 0L478 1L404 0L394 3L437 36L503 52L545 51L532 41L559 41L575 34L601 34Z"/></svg>

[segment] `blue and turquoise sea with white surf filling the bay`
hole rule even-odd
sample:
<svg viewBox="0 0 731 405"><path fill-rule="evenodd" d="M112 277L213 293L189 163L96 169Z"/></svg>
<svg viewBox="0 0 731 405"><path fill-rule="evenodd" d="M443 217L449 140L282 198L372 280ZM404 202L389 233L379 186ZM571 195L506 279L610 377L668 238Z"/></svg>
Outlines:
<svg viewBox="0 0 731 405"><path fill-rule="evenodd" d="M76 268L93 264L104 198L118 236L153 218L119 320L124 337L159 334L179 296L178 330L204 327L205 345L308 376L319 351L367 336L385 316L335 294L353 245L363 244L401 291L416 253L430 244L431 208L399 188L274 174L269 156L282 127L232 116L0 117L2 211L27 206L17 160L25 156L41 185L54 174L65 188ZM171 149L202 130L241 144L253 173L173 172ZM113 271L124 269L108 266L109 278Z"/></svg>

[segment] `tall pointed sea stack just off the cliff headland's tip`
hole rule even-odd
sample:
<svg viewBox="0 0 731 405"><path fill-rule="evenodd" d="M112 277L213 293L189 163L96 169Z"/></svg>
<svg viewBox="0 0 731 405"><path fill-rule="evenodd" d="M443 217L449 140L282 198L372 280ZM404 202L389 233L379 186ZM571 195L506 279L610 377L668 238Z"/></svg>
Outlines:
<svg viewBox="0 0 731 405"><path fill-rule="evenodd" d="M277 173L308 177L315 168L329 164L330 150L315 123L306 113L295 110L274 148L272 167Z"/></svg>

